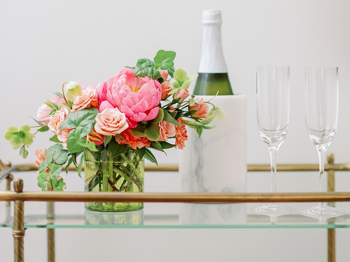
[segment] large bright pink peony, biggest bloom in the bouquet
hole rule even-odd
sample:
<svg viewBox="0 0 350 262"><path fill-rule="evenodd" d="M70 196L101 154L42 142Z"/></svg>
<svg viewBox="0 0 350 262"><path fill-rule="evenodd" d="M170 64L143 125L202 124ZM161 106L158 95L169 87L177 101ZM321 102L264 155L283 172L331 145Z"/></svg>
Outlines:
<svg viewBox="0 0 350 262"><path fill-rule="evenodd" d="M138 122L154 119L159 112L161 85L149 77L135 77L124 68L107 82L98 84L99 111L116 107L126 116L130 128ZM106 102L104 102L106 101Z"/></svg>

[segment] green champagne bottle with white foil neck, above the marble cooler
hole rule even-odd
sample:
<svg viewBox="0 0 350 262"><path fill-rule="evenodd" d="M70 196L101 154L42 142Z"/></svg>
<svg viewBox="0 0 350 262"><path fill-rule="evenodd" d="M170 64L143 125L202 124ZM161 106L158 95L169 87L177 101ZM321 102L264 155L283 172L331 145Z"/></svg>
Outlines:
<svg viewBox="0 0 350 262"><path fill-rule="evenodd" d="M221 44L221 12L203 11L203 44L195 95L233 95Z"/></svg>

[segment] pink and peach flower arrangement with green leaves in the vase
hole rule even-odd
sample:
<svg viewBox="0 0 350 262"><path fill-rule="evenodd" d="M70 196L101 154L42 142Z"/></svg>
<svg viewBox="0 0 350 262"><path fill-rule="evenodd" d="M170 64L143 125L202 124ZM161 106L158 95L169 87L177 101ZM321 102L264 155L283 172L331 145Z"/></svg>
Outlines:
<svg viewBox="0 0 350 262"><path fill-rule="evenodd" d="M193 128L199 136L204 129L213 128L208 124L218 108L210 101L196 101L189 94L188 87L196 74L187 76L183 69L175 70L175 55L174 51L159 50L153 61L138 59L135 67L125 67L96 85L66 82L61 92L54 92L55 96L39 107L34 119L36 126L8 127L5 139L19 149L23 158L28 155L26 148L36 133L53 132L50 141L54 144L35 151L41 190L65 188L59 176L63 165L67 172L74 164L80 175L84 159L126 161L127 152L137 161L144 157L157 163L150 149L162 152L172 147L182 149L187 139L185 126ZM212 107L210 111L208 105ZM36 128L36 132L31 133L31 128ZM102 170L102 166L94 168ZM130 175L137 173L136 167L129 166L130 170L125 167L109 170L106 191L108 187L115 188L118 177L124 178L124 189L129 187L129 181L137 185ZM87 183L101 187L103 179L91 178Z"/></svg>

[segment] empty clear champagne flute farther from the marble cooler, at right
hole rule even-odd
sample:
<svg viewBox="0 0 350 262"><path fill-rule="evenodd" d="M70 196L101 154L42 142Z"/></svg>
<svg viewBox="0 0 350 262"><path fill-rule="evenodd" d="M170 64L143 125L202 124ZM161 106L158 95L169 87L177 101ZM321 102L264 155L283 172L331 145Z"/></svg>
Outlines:
<svg viewBox="0 0 350 262"><path fill-rule="evenodd" d="M338 67L305 67L305 108L307 134L318 153L319 190L325 192L325 153L335 136L338 121ZM341 216L344 211L321 202L300 214L322 220Z"/></svg>

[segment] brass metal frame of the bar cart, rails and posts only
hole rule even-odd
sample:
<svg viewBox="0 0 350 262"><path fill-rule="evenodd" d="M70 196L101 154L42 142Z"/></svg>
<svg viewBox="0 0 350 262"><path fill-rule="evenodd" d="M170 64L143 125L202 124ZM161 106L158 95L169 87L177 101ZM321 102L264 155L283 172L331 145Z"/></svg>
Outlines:
<svg viewBox="0 0 350 262"><path fill-rule="evenodd" d="M23 181L14 180L14 191L10 191L10 183L13 180L11 172L36 171L34 165L3 164L0 161L0 182L6 179L6 191L0 191L0 201L14 202L13 240L14 261L23 262L24 239L24 201L48 202L48 218L54 217L53 202L182 202L182 203L242 203L242 202L350 202L350 193L334 192L335 171L350 171L350 164L334 164L334 156L327 156L327 164L324 170L327 172L328 193L123 193L112 192L22 192ZM269 165L248 165L247 171L269 171ZM318 165L278 165L281 171L318 171ZM177 165L146 165L145 171L176 172ZM330 202L330 203L329 203ZM328 232L328 262L335 262L335 229L327 229ZM54 229L47 229L47 253L48 262L54 262Z"/></svg>

